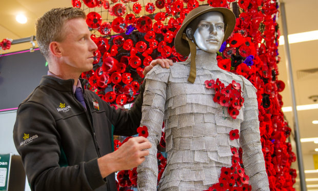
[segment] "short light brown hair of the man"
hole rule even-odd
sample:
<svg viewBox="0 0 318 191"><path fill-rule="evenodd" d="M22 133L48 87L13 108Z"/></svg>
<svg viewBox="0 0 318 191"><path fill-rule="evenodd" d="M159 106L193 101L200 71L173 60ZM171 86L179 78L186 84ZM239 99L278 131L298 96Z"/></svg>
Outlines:
<svg viewBox="0 0 318 191"><path fill-rule="evenodd" d="M46 12L42 17L38 18L36 28L36 41L39 50L48 60L50 58L49 45L51 42L61 42L64 40L65 33L63 25L66 21L72 18L86 18L86 14L82 9L68 7L68 8L54 8Z"/></svg>

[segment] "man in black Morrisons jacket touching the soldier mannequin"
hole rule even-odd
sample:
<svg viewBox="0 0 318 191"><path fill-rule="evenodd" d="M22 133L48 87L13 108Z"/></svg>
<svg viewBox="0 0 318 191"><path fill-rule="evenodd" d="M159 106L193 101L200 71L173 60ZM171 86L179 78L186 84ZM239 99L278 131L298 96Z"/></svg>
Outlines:
<svg viewBox="0 0 318 191"><path fill-rule="evenodd" d="M136 134L143 93L122 111L85 90L86 81L78 77L92 69L97 50L85 18L81 9L57 8L36 24L49 71L19 105L13 130L32 190L116 190L114 172L136 167L149 153L151 144L143 137L112 152L113 134ZM157 60L145 71L157 63L172 62Z"/></svg>

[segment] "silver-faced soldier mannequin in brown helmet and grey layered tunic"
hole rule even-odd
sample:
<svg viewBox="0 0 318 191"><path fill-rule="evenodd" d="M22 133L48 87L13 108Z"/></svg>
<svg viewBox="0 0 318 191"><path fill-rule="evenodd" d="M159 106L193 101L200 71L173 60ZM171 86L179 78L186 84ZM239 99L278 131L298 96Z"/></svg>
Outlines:
<svg viewBox="0 0 318 191"><path fill-rule="evenodd" d="M235 16L229 9L209 6L193 9L175 38L178 52L187 54L191 50L188 60L175 63L170 69L157 67L146 75L141 126L148 127L152 147L149 156L137 167L140 190L157 188L156 145L163 121L167 166L158 190L207 190L220 186L224 169L232 166L241 169L240 164L233 163L240 147L252 190L269 190L255 88L244 77L217 66L216 52L234 26ZM241 100L237 116L214 101L217 89L210 86L220 81L224 87L241 87L237 88L240 90L237 96L242 95L245 101ZM237 185L234 180L227 186L231 189Z"/></svg>

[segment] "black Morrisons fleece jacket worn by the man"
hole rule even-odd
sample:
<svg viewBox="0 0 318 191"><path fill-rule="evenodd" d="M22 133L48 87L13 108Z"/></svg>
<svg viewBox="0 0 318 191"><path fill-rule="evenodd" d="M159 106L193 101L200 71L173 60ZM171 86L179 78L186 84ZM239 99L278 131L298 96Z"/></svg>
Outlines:
<svg viewBox="0 0 318 191"><path fill-rule="evenodd" d="M113 135L136 134L143 93L123 111L84 90L86 110L75 99L73 84L46 75L18 107L13 139L31 189L117 190L114 173L103 179L97 158L113 151Z"/></svg>

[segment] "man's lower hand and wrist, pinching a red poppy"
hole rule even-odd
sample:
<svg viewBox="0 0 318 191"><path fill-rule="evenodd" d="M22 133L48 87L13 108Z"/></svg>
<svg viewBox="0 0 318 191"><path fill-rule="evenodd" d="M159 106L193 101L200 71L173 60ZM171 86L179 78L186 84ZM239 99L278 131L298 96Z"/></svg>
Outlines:
<svg viewBox="0 0 318 191"><path fill-rule="evenodd" d="M102 177L105 178L115 171L128 170L140 165L144 162L145 156L149 155L149 150L146 150L148 148L151 148L148 139L130 138L116 151L97 159Z"/></svg>

